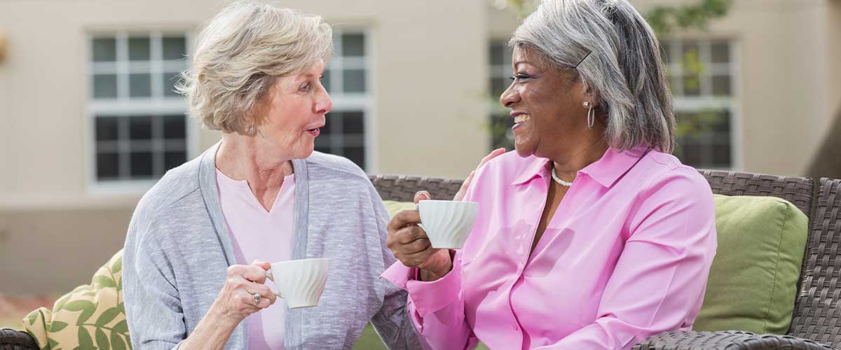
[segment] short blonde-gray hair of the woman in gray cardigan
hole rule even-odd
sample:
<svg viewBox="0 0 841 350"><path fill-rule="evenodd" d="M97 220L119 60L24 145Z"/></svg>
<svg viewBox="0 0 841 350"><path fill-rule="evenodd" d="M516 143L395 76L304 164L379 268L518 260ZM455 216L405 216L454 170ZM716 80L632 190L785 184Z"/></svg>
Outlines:
<svg viewBox="0 0 841 350"><path fill-rule="evenodd" d="M333 34L319 16L267 3L232 3L198 35L193 67L177 91L205 126L246 133L257 123L252 111L279 76L330 60Z"/></svg>

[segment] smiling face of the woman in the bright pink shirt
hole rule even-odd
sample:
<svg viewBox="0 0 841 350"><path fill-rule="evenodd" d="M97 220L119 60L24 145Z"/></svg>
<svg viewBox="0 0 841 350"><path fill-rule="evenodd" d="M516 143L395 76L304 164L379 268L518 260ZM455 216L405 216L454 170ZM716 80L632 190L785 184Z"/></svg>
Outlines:
<svg viewBox="0 0 841 350"><path fill-rule="evenodd" d="M576 143L588 142L585 138L595 129L587 125L583 102L592 101L585 98L577 73L555 68L537 51L520 47L514 49L511 62L514 81L500 103L515 118L517 154L554 158Z"/></svg>

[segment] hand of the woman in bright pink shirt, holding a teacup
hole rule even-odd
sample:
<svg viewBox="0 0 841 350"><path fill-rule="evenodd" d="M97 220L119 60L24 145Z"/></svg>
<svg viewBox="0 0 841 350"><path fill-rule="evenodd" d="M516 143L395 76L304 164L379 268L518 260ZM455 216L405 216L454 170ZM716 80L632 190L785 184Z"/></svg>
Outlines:
<svg viewBox="0 0 841 350"><path fill-rule="evenodd" d="M415 194L415 203L426 199L431 199L426 191ZM389 222L389 238L385 244L400 263L421 269L421 280L440 279L452 269L450 250L432 248L426 231L417 226L419 223L421 213L417 210L398 212Z"/></svg>

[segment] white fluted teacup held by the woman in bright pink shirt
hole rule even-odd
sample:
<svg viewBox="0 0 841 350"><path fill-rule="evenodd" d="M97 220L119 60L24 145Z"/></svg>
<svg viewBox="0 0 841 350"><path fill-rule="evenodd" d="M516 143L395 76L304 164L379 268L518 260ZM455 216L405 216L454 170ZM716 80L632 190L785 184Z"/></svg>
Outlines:
<svg viewBox="0 0 841 350"><path fill-rule="evenodd" d="M479 214L475 201L420 201L421 227L432 248L460 249L467 241Z"/></svg>

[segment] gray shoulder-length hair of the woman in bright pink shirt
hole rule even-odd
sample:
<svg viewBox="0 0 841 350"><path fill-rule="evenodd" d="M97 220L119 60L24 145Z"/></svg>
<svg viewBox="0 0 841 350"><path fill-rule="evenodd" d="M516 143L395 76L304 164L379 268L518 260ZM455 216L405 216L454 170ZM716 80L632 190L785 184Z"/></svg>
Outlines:
<svg viewBox="0 0 841 350"><path fill-rule="evenodd" d="M672 152L674 109L660 45L627 0L547 0L509 44L578 71L606 118L611 147L647 145Z"/></svg>

